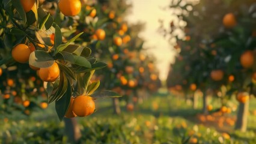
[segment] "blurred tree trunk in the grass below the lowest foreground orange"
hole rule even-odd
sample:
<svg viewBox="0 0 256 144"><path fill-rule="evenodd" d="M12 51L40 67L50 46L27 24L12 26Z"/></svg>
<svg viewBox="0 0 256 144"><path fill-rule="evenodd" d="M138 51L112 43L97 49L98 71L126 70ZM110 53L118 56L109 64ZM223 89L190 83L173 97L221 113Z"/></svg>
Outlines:
<svg viewBox="0 0 256 144"><path fill-rule="evenodd" d="M78 143L81 139L81 131L78 127L78 122L75 118L64 118L65 122L65 133L72 143Z"/></svg>

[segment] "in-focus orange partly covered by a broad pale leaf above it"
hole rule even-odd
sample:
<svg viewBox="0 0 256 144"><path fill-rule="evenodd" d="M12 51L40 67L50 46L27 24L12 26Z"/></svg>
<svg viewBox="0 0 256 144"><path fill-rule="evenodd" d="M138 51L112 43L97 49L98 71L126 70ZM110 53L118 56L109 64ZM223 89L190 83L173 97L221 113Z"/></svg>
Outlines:
<svg viewBox="0 0 256 144"><path fill-rule="evenodd" d="M59 66L56 62L50 67L40 68L39 77L44 82L54 82L59 77Z"/></svg>

